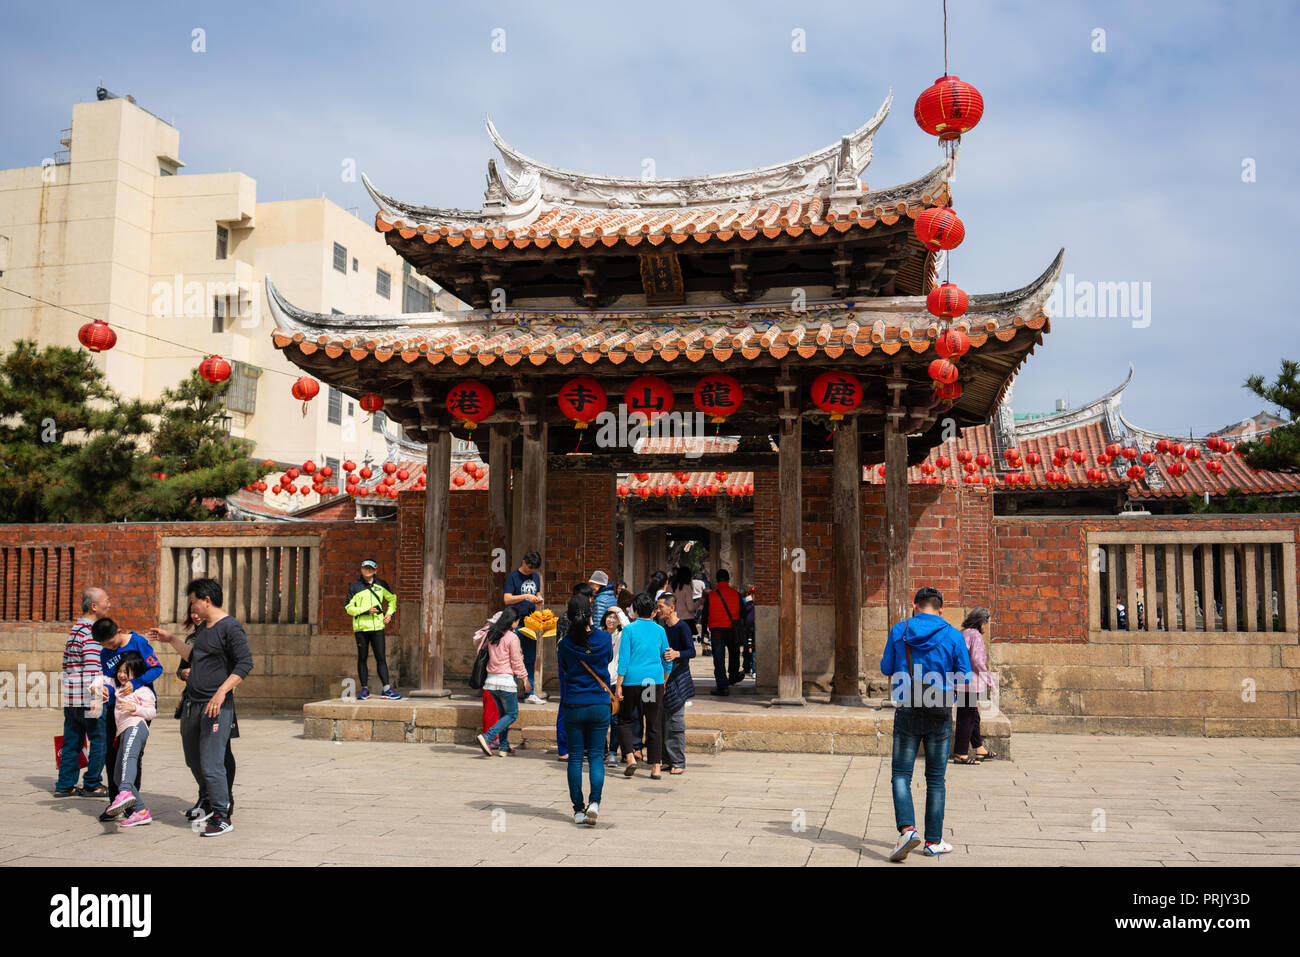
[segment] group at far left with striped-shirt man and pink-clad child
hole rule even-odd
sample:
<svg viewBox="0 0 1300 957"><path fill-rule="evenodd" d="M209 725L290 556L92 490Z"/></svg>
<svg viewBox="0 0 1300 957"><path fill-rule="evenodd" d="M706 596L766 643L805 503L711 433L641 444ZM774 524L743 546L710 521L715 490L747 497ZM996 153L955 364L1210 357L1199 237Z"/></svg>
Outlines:
<svg viewBox="0 0 1300 957"><path fill-rule="evenodd" d="M224 596L214 579L195 579L186 596L186 629L192 633L183 638L160 627L143 635L125 631L109 616L112 602L103 588L82 596L82 618L64 646L64 735L55 796L108 798L99 819L122 828L153 822L143 792L143 758L157 716L153 684L162 664L150 642L166 642L181 658L177 676L185 685L176 718L182 759L199 788L185 815L204 837L216 837L234 827L230 739L239 731L233 692L254 662L243 625L221 607ZM78 785L82 759L86 770Z"/></svg>

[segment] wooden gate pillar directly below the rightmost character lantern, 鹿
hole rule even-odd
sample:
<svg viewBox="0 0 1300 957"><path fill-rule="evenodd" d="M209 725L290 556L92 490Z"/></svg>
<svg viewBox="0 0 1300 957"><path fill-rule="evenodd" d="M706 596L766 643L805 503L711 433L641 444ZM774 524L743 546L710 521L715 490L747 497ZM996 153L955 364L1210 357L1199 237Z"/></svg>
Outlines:
<svg viewBox="0 0 1300 957"><path fill-rule="evenodd" d="M887 469L888 472L888 469ZM835 677L832 705L862 705L862 459L858 421L835 433L831 465L831 592L835 594Z"/></svg>

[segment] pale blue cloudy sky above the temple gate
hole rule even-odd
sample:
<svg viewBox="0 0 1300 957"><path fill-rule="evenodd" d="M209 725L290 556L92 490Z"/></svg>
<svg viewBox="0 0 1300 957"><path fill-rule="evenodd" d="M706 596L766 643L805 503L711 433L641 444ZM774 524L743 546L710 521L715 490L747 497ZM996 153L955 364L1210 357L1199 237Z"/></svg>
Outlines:
<svg viewBox="0 0 1300 957"><path fill-rule="evenodd" d="M179 127L187 172L242 170L261 200L324 192L367 218L344 160L399 198L480 205L485 113L549 163L638 176L650 157L681 176L824 146L893 88L867 182L940 159L911 118L944 72L939 0L48 4L5 20L0 168L52 155L100 82ZM1202 433L1264 407L1245 376L1300 358L1279 289L1300 213L1297 29L1300 8L1271 0L952 0L949 69L985 101L954 183L967 237L953 281L1015 289L1063 246L1076 283L1150 283L1144 328L1053 320L1017 380L1018 412L1093 398L1132 361L1126 416Z"/></svg>

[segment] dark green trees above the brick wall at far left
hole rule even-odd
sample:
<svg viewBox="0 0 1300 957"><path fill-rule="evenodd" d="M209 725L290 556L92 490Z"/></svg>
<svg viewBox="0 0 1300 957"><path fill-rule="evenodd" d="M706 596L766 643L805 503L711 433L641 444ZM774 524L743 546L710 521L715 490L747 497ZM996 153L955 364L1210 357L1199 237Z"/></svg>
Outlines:
<svg viewBox="0 0 1300 957"><path fill-rule="evenodd" d="M0 354L0 521L212 518L203 497L263 471L221 432L220 394L191 373L159 402L124 399L88 352L14 343Z"/></svg>

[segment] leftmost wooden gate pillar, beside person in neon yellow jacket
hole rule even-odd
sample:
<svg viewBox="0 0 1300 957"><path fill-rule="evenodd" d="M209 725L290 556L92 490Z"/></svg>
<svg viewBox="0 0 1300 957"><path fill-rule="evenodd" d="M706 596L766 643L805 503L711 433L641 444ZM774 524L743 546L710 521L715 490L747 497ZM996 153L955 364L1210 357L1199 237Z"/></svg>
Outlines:
<svg viewBox="0 0 1300 957"><path fill-rule="evenodd" d="M442 687L447 624L447 506L451 493L451 433L425 442L424 589L421 592L420 688L413 697L445 698Z"/></svg>

